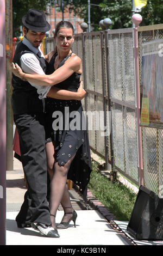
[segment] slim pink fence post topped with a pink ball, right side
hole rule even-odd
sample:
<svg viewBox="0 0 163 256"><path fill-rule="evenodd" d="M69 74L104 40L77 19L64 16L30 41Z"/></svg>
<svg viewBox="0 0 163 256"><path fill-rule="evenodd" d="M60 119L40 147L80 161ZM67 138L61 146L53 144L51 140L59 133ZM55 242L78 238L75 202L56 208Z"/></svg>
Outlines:
<svg viewBox="0 0 163 256"><path fill-rule="evenodd" d="M136 89L136 125L137 125L137 143L139 154L139 185L143 185L143 164L142 164L142 136L140 127L140 76L139 76L139 44L138 44L138 32L142 16L140 14L134 14L132 21L135 24L133 28L134 33L134 64L135 64L135 89Z"/></svg>

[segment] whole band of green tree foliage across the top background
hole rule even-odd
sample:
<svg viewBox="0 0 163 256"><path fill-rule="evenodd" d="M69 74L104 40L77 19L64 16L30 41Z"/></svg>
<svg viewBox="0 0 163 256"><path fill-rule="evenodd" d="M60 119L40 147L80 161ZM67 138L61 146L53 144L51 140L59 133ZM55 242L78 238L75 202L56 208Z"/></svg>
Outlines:
<svg viewBox="0 0 163 256"><path fill-rule="evenodd" d="M20 35L22 16L27 13L29 8L46 10L49 0L14 0L13 5L13 35ZM65 7L73 7L75 13L87 23L87 0L64 0ZM110 18L112 25L110 29L131 27L132 0L90 0L91 3L91 27L92 31L101 30L99 21ZM53 4L53 1L52 1ZM96 4L96 5L93 5ZM98 5L98 6L97 6ZM141 26L163 23L163 2L162 0L148 0L141 15L143 21Z"/></svg>

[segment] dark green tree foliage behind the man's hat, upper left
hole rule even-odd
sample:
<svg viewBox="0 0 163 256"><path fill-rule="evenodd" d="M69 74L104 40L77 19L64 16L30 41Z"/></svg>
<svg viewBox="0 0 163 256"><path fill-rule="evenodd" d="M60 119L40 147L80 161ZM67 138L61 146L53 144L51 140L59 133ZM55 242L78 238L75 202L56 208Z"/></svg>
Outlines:
<svg viewBox="0 0 163 256"><path fill-rule="evenodd" d="M13 14L13 35L20 36L20 26L22 25L22 17L27 14L30 8L46 10L48 0L14 0L12 1Z"/></svg>

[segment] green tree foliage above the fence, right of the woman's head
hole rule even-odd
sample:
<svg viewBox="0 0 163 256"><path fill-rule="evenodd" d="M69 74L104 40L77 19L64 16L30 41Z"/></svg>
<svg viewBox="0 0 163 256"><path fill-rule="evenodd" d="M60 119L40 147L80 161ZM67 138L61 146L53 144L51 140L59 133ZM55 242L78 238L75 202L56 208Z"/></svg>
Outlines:
<svg viewBox="0 0 163 256"><path fill-rule="evenodd" d="M78 15L87 23L87 0L65 0L64 2L73 5ZM132 2L132 0L90 0L92 30L101 29L99 21L105 18L111 19L111 29L131 27ZM140 13L143 17L141 26L163 23L162 13L162 0L148 0L146 7Z"/></svg>

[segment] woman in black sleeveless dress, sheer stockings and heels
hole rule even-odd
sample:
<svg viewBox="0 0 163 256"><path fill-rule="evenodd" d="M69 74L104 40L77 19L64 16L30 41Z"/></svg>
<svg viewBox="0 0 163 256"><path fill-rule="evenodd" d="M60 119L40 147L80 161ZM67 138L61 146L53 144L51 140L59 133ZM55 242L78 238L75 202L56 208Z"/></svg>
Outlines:
<svg viewBox="0 0 163 256"><path fill-rule="evenodd" d="M16 76L21 77L21 79L35 84L43 86L56 85L58 88L76 92L82 74L82 62L71 50L74 41L72 24L67 21L59 22L55 29L54 40L57 52L52 52L48 55L49 74L52 73L51 75L25 74L17 64L12 64L13 72ZM47 100L47 107L48 125L46 136L49 143L46 143L46 152L48 169L52 178L50 198L52 225L54 228L56 227L55 216L61 203L64 209L64 217L61 223L57 225L57 228L68 228L71 220L74 222L74 227L76 227L77 214L72 208L66 181L67 178L71 179L79 185L80 191L85 193L90 179L91 159L89 142L87 132L82 129L83 108L80 101L53 100L50 98ZM53 117L56 114L55 119L52 118L52 114ZM60 119L56 118L57 114L60 115ZM74 115L76 118L73 118ZM60 123L59 129L57 121ZM54 173L52 174L53 163Z"/></svg>

